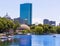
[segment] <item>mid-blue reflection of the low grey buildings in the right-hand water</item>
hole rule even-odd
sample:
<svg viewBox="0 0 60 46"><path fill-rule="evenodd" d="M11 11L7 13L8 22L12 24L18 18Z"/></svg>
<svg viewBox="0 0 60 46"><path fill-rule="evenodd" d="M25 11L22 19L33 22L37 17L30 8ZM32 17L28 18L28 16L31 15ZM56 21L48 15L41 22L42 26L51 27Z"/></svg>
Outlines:
<svg viewBox="0 0 60 46"><path fill-rule="evenodd" d="M55 38L53 36L45 36L43 44L44 46L55 46Z"/></svg>

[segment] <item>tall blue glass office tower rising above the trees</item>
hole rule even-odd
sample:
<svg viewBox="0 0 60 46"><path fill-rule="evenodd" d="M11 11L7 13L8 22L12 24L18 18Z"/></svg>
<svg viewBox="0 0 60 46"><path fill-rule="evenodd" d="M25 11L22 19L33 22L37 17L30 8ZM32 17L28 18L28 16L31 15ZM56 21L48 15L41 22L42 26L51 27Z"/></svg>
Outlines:
<svg viewBox="0 0 60 46"><path fill-rule="evenodd" d="M32 4L20 4L20 18L25 21L25 24L32 24Z"/></svg>

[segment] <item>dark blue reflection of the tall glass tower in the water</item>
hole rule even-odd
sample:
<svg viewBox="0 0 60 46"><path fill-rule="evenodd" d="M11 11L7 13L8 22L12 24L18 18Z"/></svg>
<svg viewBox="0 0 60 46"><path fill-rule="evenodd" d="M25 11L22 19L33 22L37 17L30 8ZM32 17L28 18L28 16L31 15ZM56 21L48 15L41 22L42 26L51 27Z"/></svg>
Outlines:
<svg viewBox="0 0 60 46"><path fill-rule="evenodd" d="M20 46L31 46L31 36L30 35L21 36Z"/></svg>

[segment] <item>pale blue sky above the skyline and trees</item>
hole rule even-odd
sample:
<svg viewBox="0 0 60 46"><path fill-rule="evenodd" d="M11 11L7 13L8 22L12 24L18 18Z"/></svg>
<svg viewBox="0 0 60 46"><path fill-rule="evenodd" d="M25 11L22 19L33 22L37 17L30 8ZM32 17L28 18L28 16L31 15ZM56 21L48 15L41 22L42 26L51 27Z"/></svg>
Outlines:
<svg viewBox="0 0 60 46"><path fill-rule="evenodd" d="M32 3L32 23L49 19L60 23L60 0L0 0L0 16L20 17L20 4Z"/></svg>

